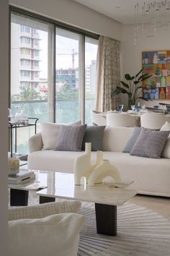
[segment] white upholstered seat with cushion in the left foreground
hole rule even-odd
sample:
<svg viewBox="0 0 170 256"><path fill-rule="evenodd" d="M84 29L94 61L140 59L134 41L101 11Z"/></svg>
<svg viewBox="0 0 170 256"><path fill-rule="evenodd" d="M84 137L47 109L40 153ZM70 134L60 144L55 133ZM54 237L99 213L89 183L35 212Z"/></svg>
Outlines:
<svg viewBox="0 0 170 256"><path fill-rule="evenodd" d="M77 255L84 223L80 206L62 201L9 208L9 255Z"/></svg>

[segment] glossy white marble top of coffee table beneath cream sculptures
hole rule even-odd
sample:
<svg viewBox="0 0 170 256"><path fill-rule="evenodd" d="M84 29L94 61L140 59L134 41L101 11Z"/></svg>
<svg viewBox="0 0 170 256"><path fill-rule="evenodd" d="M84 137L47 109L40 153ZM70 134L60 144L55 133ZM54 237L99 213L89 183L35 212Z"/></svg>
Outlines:
<svg viewBox="0 0 170 256"><path fill-rule="evenodd" d="M40 176L42 172L40 171ZM42 176L44 179L45 176ZM47 172L47 188L37 192L40 196L60 197L65 199L98 202L108 205L121 205L136 195L136 192L125 189L131 182L121 184L104 183L89 187L86 183L75 186L74 174Z"/></svg>

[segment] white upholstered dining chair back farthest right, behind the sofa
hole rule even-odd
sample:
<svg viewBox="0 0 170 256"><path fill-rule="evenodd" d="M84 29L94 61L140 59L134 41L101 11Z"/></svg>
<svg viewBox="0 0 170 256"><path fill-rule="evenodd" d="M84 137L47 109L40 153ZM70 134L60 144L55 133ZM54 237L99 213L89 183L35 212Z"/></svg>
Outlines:
<svg viewBox="0 0 170 256"><path fill-rule="evenodd" d="M140 125L145 128L160 129L166 121L170 121L170 116L164 114L153 113L140 116Z"/></svg>

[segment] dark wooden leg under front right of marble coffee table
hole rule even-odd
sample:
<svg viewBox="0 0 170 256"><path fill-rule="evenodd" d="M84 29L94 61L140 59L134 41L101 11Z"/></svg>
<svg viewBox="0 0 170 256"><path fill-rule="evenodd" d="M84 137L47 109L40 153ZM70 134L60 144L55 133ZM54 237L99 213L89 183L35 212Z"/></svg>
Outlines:
<svg viewBox="0 0 170 256"><path fill-rule="evenodd" d="M116 236L117 234L117 206L95 203L97 233Z"/></svg>

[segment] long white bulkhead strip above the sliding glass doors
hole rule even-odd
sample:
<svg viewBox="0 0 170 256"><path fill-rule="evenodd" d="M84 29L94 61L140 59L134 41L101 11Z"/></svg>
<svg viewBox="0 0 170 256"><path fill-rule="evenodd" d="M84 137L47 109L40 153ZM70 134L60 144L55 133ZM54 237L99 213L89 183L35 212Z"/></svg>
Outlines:
<svg viewBox="0 0 170 256"><path fill-rule="evenodd" d="M120 22L116 22L73 0L9 0L9 3L99 35L117 40L122 37Z"/></svg>

